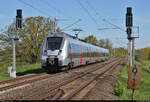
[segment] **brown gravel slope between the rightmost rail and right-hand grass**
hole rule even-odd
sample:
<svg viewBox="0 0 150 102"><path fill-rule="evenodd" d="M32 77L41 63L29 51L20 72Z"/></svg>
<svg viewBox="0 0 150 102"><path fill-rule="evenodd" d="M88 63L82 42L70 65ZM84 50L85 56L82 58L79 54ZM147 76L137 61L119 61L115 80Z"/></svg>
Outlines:
<svg viewBox="0 0 150 102"><path fill-rule="evenodd" d="M114 85L117 82L117 74L121 65L109 71L102 78L97 79L96 85L82 98L82 100L118 100L114 95Z"/></svg>

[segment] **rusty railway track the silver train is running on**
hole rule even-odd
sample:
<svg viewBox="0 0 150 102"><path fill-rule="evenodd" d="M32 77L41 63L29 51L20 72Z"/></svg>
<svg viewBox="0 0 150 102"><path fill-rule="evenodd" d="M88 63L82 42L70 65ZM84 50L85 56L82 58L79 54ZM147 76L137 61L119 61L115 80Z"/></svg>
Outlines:
<svg viewBox="0 0 150 102"><path fill-rule="evenodd" d="M109 62L107 62L109 63ZM105 65L106 62L102 63L102 65ZM69 70L67 72L73 72L78 70L78 68L74 68L72 70ZM9 89L13 89L13 88L17 88L20 86L25 86L25 85L29 85L31 83L37 82L37 81L41 81L44 79L48 79L51 77L55 77L61 74L64 74L66 72L60 72L60 73L56 73L56 74L46 74L46 73L40 73L40 74L33 74L33 75L28 75L28 76L24 76L24 77L20 77L20 78L16 78L16 79L12 79L12 80L6 80L6 81L2 81L0 82L0 92L2 91L7 91ZM20 81L20 82L19 82ZM16 82L16 83L15 83Z"/></svg>

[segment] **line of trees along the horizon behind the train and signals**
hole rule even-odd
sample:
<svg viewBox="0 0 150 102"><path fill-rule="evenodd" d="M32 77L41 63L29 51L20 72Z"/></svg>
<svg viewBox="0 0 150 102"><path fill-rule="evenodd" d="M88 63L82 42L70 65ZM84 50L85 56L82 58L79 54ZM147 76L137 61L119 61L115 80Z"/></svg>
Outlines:
<svg viewBox="0 0 150 102"><path fill-rule="evenodd" d="M13 22L7 28L0 31L0 56L12 56L12 31L16 33L15 23ZM22 22L22 29L18 30L19 41L16 42L16 58L17 62L22 63L38 63L40 62L41 46L45 36L51 34L54 30L54 21L50 18L28 17ZM61 28L57 27L56 32L61 32ZM109 38L97 39L94 35L89 35L83 40L109 49L110 55L125 56L127 49L113 48L112 41ZM150 59L150 48L136 50L138 58ZM139 56L140 55L140 56ZM7 57L8 58L8 57ZM6 59L7 59L6 58ZM5 59L5 60L6 60Z"/></svg>

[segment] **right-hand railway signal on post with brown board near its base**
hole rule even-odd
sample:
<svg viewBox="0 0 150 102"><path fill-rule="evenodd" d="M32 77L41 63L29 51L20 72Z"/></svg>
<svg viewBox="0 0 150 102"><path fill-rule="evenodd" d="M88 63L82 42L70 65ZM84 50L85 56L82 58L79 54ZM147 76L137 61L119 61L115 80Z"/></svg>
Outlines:
<svg viewBox="0 0 150 102"><path fill-rule="evenodd" d="M130 60L129 63L129 70L128 70L128 89L132 89L132 100L134 95L134 90L138 90L140 88L141 82L141 68L136 67L135 65L135 50L134 50L134 40L135 37L132 35L132 28L133 28L133 16L132 16L132 8L127 8L126 13L126 33L127 39L129 40L128 45L128 59Z"/></svg>

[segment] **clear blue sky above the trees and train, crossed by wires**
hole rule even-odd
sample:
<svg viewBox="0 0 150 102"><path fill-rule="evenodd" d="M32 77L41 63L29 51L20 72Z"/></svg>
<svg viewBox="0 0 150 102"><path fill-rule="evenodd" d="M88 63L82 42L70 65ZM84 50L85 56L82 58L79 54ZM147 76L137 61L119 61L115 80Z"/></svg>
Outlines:
<svg viewBox="0 0 150 102"><path fill-rule="evenodd" d="M0 29L13 22L16 9L22 9L23 18L56 18L61 29L72 25L63 32L74 35L72 29L79 28L83 30L79 33L82 39L93 34L98 40L109 38L113 47L127 48L127 34L121 29L126 29L126 8L132 7L135 36L138 35L136 26L139 26L139 39L135 40L135 48L140 49L150 47L149 4L150 0L1 0ZM121 29L102 30L115 28L112 24Z"/></svg>

